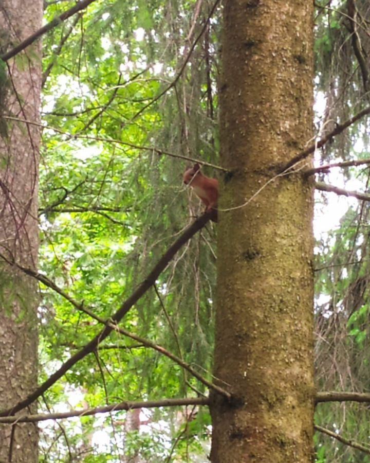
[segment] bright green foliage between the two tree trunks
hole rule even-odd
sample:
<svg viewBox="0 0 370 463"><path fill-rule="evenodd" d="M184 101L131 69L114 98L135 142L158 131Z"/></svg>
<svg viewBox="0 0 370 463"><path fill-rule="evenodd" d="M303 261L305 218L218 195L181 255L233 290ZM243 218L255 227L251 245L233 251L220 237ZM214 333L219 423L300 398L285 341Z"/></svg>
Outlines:
<svg viewBox="0 0 370 463"><path fill-rule="evenodd" d="M50 4L46 20L68 4ZM202 20L209 6L202 5ZM193 1L97 1L78 21L71 18L44 38L44 69L50 73L43 88L47 128L40 166L40 271L104 319L119 309L191 220L189 190L181 184L184 162L155 150L217 163L217 100L210 99L217 61L214 57L206 66L204 39L176 88L155 100L183 62L180 50L187 45L194 7ZM191 41L199 27L200 22ZM215 16L213 40L218 28ZM193 214L202 212L194 198L191 208ZM170 350L208 379L214 248L215 229L209 225L158 278L161 300L150 289L122 322L124 329ZM41 295L43 381L102 326L44 285ZM195 391L207 392L162 354L114 332L96 354L54 384L45 400L52 408L77 394L81 400L73 407L102 406L194 396ZM117 461L119 455L164 461L186 417L169 409L147 413L152 424L145 433L117 427L115 420L125 419L125 413L112 414L104 424L100 418L63 423L66 439L60 435L53 441L58 427L42 432L42 461L69 461L69 452L88 462ZM202 421L192 422L191 433L173 449L178 461L204 454L209 416L207 411L199 416ZM106 448L91 441L99 426L109 441Z"/></svg>

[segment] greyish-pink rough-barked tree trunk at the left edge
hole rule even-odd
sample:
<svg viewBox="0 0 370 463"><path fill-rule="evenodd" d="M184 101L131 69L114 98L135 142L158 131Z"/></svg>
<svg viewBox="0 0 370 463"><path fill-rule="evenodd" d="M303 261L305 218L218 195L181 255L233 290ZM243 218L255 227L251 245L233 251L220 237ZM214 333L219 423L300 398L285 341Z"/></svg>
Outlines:
<svg viewBox="0 0 370 463"><path fill-rule="evenodd" d="M41 27L42 14L42 0L2 0L2 52ZM3 116L39 120L40 43L10 60L7 73L8 83L0 88L0 253L35 268L40 131L24 123L7 123ZM24 399L37 385L36 293L32 281L0 258L0 409ZM36 406L29 411L35 413ZM38 461L38 430L34 423L0 425L0 461Z"/></svg>

